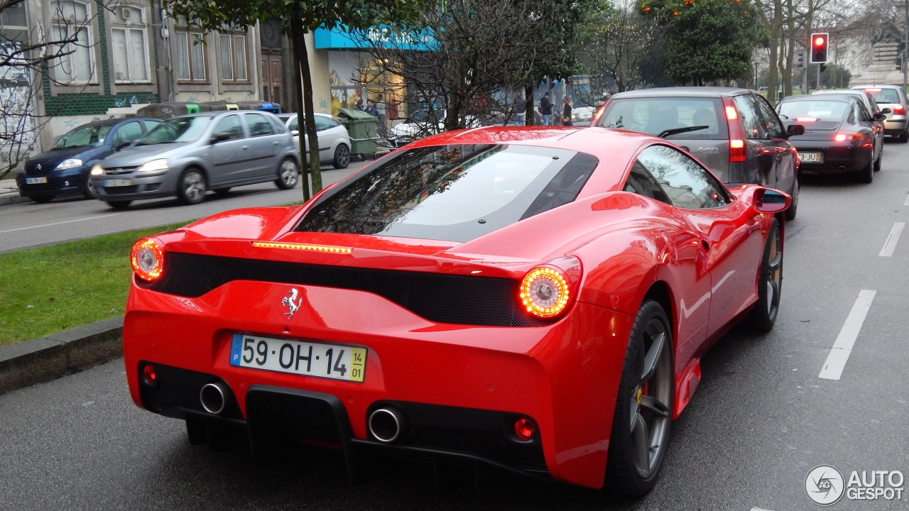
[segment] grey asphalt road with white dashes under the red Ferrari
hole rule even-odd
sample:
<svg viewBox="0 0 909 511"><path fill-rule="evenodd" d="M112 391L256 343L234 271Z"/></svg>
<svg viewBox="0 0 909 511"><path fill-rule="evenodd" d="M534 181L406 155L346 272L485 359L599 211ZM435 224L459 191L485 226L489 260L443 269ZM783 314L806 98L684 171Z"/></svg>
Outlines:
<svg viewBox="0 0 909 511"><path fill-rule="evenodd" d="M814 466L846 478L909 475L909 233L893 234L909 220L906 161L909 145L888 143L871 185L805 180L798 218L787 225L774 331L736 329L704 357L663 478L641 500L510 476L492 477L478 493L440 490L431 467L405 461L351 486L336 453L255 468L247 449L190 446L181 422L136 408L117 360L0 396L0 508L794 511L820 509L804 489ZM152 211L171 209L192 208ZM848 351L842 375L822 378L834 351ZM844 497L831 508L904 510L907 501Z"/></svg>

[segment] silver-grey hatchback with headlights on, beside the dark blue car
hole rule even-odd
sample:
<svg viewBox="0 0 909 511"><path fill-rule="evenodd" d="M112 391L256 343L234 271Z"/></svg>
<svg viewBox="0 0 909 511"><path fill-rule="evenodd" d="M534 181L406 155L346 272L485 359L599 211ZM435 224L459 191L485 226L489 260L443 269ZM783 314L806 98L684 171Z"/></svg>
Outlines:
<svg viewBox="0 0 909 511"><path fill-rule="evenodd" d="M198 204L205 192L299 180L299 155L284 123L268 112L232 110L181 115L155 126L91 170L97 198L115 208L176 196Z"/></svg>

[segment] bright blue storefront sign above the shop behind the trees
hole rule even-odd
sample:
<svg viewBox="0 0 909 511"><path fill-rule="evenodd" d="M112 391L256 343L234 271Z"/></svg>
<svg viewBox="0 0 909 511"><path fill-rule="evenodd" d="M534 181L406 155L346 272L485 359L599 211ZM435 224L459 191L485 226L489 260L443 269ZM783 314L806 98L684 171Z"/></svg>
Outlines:
<svg viewBox="0 0 909 511"><path fill-rule="evenodd" d="M344 26L331 30L316 28L313 32L316 49L371 48L378 45L398 50L431 50L435 35L424 30L398 31L389 27L371 26L366 30L348 32Z"/></svg>

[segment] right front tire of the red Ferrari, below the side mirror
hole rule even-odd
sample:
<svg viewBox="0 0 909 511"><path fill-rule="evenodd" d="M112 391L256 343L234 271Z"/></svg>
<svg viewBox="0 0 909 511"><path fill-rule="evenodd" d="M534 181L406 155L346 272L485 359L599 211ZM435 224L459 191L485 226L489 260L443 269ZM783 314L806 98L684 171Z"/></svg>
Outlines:
<svg viewBox="0 0 909 511"><path fill-rule="evenodd" d="M764 255L757 272L757 303L748 315L748 323L757 332L774 328L783 291L783 235L776 218L770 224Z"/></svg>

